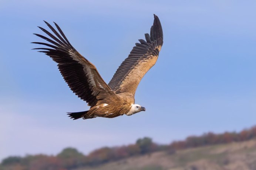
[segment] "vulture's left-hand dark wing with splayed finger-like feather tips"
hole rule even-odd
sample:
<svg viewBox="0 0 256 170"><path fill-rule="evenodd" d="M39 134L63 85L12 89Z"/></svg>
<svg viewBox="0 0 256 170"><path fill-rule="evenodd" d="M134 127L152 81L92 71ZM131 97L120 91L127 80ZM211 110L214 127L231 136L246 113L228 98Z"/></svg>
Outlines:
<svg viewBox="0 0 256 170"><path fill-rule="evenodd" d="M98 73L96 67L85 59L68 42L68 39L61 31L60 27L54 22L60 34L46 21L47 26L53 31L53 34L46 29L39 27L50 38L35 34L50 42L33 42L35 44L45 45L51 48L36 48L50 56L56 63L61 75L64 77L70 89L82 100L88 103L88 106L94 106L98 100L105 99L109 95L115 95L110 87L105 83Z"/></svg>

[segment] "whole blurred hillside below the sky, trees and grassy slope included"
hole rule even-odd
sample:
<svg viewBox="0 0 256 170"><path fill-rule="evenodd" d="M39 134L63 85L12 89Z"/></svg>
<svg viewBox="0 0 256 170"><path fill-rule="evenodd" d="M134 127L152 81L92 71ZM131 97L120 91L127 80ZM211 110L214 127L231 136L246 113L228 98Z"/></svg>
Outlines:
<svg viewBox="0 0 256 170"><path fill-rule="evenodd" d="M0 170L115 169L256 170L256 126L240 132L208 132L166 145L144 137L135 144L104 147L88 155L65 148L56 156L9 156L0 164Z"/></svg>

